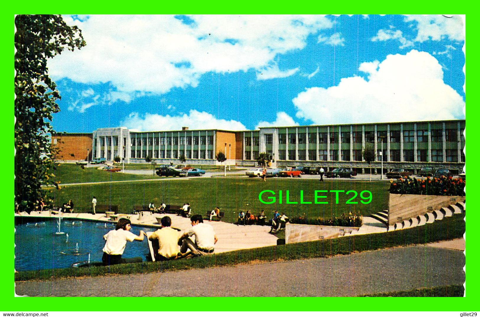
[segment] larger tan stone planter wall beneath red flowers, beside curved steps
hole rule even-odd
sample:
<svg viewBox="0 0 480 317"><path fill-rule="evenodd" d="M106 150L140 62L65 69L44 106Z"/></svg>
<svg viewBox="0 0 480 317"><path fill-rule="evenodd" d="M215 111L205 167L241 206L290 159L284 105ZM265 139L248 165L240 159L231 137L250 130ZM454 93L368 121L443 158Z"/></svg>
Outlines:
<svg viewBox="0 0 480 317"><path fill-rule="evenodd" d="M399 223L464 200L465 196L389 194L388 224Z"/></svg>

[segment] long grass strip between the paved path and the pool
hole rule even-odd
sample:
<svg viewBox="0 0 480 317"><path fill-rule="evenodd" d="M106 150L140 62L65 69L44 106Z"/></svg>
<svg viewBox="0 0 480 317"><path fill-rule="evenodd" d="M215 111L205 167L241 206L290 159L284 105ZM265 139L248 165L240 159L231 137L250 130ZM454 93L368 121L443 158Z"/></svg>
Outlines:
<svg viewBox="0 0 480 317"><path fill-rule="evenodd" d="M283 246L262 247L214 254L200 258L163 262L119 264L111 267L67 268L56 270L21 271L15 273L15 281L33 279L48 280L61 277L98 276L111 274L133 274L160 272L166 270L188 270L213 266L227 266L251 261L296 260L301 258L325 258L339 254L351 254L387 247L425 244L435 241L463 237L465 232L464 214L444 218L411 229L396 230L371 235L352 235L336 239L309 241Z"/></svg>

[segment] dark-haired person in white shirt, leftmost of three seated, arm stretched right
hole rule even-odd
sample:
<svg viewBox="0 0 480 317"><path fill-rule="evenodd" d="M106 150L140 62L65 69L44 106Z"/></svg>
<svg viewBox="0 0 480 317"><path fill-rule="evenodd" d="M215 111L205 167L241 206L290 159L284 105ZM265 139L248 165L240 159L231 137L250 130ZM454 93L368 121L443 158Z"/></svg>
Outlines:
<svg viewBox="0 0 480 317"><path fill-rule="evenodd" d="M144 241L145 232L140 230L140 235L135 235L130 232L132 223L130 219L120 218L115 230L110 230L103 236L105 240L105 247L103 248L102 262L103 265L114 265L123 263L142 262L142 258L122 258L123 251L127 245L127 241L133 240Z"/></svg>

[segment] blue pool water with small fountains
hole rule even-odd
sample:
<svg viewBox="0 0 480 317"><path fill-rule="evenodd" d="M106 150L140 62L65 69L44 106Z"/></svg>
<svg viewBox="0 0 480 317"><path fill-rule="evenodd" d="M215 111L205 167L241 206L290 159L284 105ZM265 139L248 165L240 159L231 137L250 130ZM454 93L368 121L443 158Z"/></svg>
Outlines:
<svg viewBox="0 0 480 317"><path fill-rule="evenodd" d="M114 230L113 223L61 220L60 231L55 235L58 223L55 220L15 225L15 270L43 270L69 268L73 263L88 260L101 262L105 240L103 235ZM154 228L132 226L131 232L154 231ZM67 236L68 234L68 242ZM78 252L76 244L78 243ZM62 254L62 252L67 254ZM123 258L142 257L148 253L146 237L144 241L127 242ZM72 255L78 253L79 255Z"/></svg>

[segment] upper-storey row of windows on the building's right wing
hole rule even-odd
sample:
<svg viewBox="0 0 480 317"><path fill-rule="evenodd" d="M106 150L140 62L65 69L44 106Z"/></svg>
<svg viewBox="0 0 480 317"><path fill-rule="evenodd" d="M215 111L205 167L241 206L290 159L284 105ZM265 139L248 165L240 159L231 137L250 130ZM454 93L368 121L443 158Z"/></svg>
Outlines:
<svg viewBox="0 0 480 317"><path fill-rule="evenodd" d="M265 143L271 144L271 134L266 134ZM340 140L342 143L350 143L350 137L353 143L362 143L362 132L330 132L328 134L326 132L318 133L318 142L319 143L327 143L327 140L330 143L338 143L340 136ZM390 131L390 142L400 142L400 131ZM417 130L417 142L428 142L428 130ZM433 129L431 130L431 137L432 142L442 142L443 133L442 129ZM463 141L463 135L460 136ZM279 133L278 134L278 143L279 144L286 144L288 138L289 144L306 144L307 138L309 143L317 143L317 133ZM297 140L298 138L298 140ZM387 131L377 131L377 141L384 142L387 141ZM269 141L270 140L270 141ZM297 142L298 141L298 142ZM404 130L403 131L403 141L404 142L414 142L415 141L415 130ZM448 142L455 142L457 141L457 130L456 129L445 129L445 141ZM367 143L374 143L375 142L375 132L374 131L366 131L365 132L365 142ZM257 144L258 145L258 144Z"/></svg>

